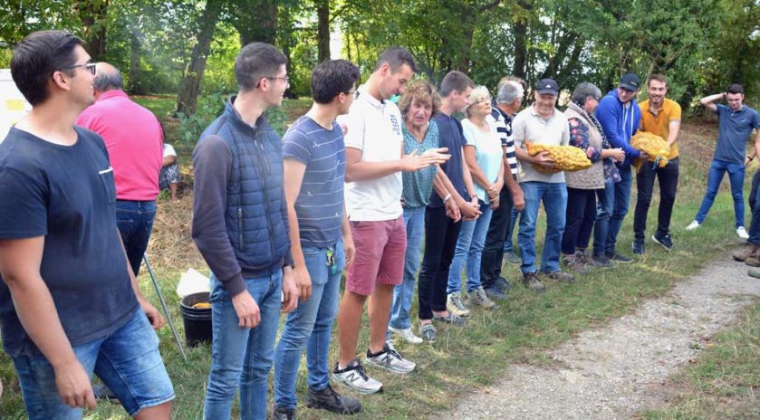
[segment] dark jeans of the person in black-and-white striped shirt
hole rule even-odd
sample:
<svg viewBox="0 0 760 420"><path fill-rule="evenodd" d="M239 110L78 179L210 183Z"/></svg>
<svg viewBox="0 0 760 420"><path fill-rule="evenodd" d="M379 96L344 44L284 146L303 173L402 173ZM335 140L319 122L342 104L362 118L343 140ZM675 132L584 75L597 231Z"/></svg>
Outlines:
<svg viewBox="0 0 760 420"><path fill-rule="evenodd" d="M512 193L504 187L499 193L499 206L491 213L491 223L483 245L483 258L480 261L480 283L484 288L492 288L496 279L501 277L502 262L506 248L506 233L510 231L513 209ZM512 249L512 235L509 235L509 249Z"/></svg>

